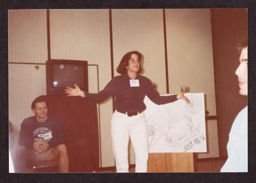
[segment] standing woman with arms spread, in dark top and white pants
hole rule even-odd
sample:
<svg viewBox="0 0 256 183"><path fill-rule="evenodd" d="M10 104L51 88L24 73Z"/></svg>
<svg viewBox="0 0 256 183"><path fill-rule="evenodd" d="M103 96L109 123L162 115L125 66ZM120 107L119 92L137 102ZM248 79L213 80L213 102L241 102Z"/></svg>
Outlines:
<svg viewBox="0 0 256 183"><path fill-rule="evenodd" d="M148 130L143 111L145 95L156 104L166 104L183 99L189 100L184 93L178 95L160 96L154 89L152 82L141 76L141 53L127 52L120 61L116 71L120 76L113 77L99 93L87 93L75 88L67 87L67 96L81 96L85 99L100 103L115 96L115 112L111 119L111 138L113 153L116 161L116 172L129 172L128 143L131 138L136 156L135 172L147 172L148 161Z"/></svg>

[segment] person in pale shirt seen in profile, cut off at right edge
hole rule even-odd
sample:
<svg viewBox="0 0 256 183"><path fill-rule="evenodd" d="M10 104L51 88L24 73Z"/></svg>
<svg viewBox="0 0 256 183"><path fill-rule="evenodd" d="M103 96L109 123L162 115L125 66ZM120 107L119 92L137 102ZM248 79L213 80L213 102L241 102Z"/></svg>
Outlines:
<svg viewBox="0 0 256 183"><path fill-rule="evenodd" d="M236 70L239 94L248 96L248 44L239 45L239 66ZM221 172L248 172L248 106L244 107L232 124L227 144L228 159Z"/></svg>

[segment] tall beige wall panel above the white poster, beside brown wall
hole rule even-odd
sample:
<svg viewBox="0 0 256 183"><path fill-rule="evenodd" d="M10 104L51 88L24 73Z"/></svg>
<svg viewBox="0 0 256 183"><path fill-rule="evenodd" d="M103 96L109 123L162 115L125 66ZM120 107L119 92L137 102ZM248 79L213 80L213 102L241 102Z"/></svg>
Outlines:
<svg viewBox="0 0 256 183"><path fill-rule="evenodd" d="M205 109L216 115L210 10L166 10L166 34L170 93L182 85L205 93Z"/></svg>

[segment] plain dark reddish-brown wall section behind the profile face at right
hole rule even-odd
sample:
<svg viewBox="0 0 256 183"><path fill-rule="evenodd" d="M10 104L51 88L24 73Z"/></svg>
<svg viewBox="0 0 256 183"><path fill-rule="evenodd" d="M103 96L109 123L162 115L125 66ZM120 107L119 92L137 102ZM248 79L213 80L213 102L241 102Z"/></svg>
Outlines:
<svg viewBox="0 0 256 183"><path fill-rule="evenodd" d="M239 65L235 47L248 38L248 9L212 9L211 17L220 156L225 157L232 123L248 104L248 98L239 94L235 74Z"/></svg>

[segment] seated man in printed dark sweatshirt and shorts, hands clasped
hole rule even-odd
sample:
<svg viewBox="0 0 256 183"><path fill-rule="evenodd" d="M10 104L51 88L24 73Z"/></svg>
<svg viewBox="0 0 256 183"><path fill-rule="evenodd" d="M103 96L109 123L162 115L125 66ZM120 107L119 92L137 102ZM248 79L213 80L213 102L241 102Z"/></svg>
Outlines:
<svg viewBox="0 0 256 183"><path fill-rule="evenodd" d="M23 120L20 125L16 172L26 171L33 161L58 159L61 172L68 172L69 160L61 121L47 115L46 97L37 97L31 104L35 116Z"/></svg>

